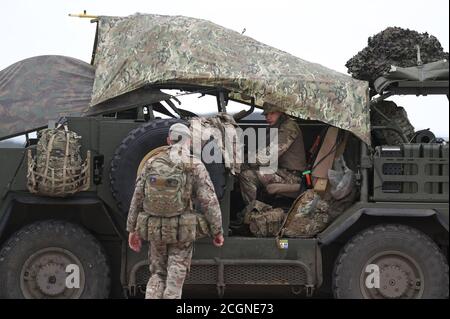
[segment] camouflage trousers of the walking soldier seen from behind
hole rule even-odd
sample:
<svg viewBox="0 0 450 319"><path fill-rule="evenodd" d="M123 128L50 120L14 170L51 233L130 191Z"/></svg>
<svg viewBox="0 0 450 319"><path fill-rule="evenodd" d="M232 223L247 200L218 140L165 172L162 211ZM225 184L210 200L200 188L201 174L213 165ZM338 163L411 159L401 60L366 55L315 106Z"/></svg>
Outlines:
<svg viewBox="0 0 450 319"><path fill-rule="evenodd" d="M180 299L194 243L150 242L150 279L145 299Z"/></svg>

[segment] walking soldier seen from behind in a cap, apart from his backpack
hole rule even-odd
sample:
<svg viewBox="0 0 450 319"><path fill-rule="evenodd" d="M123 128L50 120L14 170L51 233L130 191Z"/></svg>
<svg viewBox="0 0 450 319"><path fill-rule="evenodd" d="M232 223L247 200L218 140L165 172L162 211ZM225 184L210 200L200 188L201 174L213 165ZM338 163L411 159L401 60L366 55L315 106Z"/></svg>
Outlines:
<svg viewBox="0 0 450 319"><path fill-rule="evenodd" d="M152 162L155 161L155 158L169 158L173 161L173 158L170 157L171 151L175 150L175 147L180 148L181 150L189 150L191 144L191 132L189 128L183 124L177 123L170 127L169 137L167 138L167 143L169 146L164 149L161 153L151 157L145 164L142 173L137 178L136 181L136 189L134 191L134 195L130 205L130 211L128 215L127 221L127 231L129 234L129 246L136 252L139 252L142 246L142 238L139 233L136 231L140 225L137 222L140 220L138 218L140 212L144 212L147 215L152 216L158 208L158 205L172 205L173 203L168 203L164 201L162 203L151 202L149 205L148 198L151 196L156 196L157 194L148 194L148 187L146 183L152 183L152 179L156 180L153 175L150 174L152 169ZM189 151L187 151L189 152ZM189 155L189 158L192 157ZM154 164L154 163L153 163ZM195 201L200 206L200 209L204 213L206 220L209 223L210 235L212 235L213 244L216 247L220 247L223 245L223 231L222 231L222 217L219 202L217 196L214 192L214 186L211 182L209 174L203 165L203 163L199 160L191 161L191 165L189 166L189 170L185 170L184 174L186 174L187 182L185 184L185 188L190 188L192 185L191 192L188 194L192 201ZM148 179L150 178L150 179ZM185 191L185 189L183 189ZM188 207L189 205L185 203ZM169 215L171 212L168 212ZM173 213L173 212L172 212ZM150 241L150 249L149 249L149 259L150 259L150 279L147 284L146 299L179 299L181 298L181 292L183 288L183 283L187 272L189 271L191 265L192 251L193 251L193 240L184 241L182 239L178 239L179 229L171 229L168 225L172 225L173 227L180 227L180 216L187 216L187 214L191 213L189 209L187 209L186 213L183 212L182 215L172 216L172 217L157 217L154 219L155 221L160 221L163 227L160 227L159 230L161 234L155 236L156 238L148 238ZM192 214L191 214L192 215ZM177 219L175 223L171 223L170 220ZM162 221L165 219L167 223ZM148 228L150 234L150 228L154 225L151 225L152 219L148 219ZM147 226L147 225L145 225ZM177 238L175 242L167 243L165 240L169 238L171 233L176 233Z"/></svg>

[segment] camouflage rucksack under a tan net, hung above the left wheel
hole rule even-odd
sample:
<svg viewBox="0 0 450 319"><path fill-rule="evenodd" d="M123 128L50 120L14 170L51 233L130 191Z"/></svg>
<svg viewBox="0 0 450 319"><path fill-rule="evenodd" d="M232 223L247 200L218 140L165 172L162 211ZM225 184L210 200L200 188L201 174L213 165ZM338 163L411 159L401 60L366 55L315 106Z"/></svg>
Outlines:
<svg viewBox="0 0 450 319"><path fill-rule="evenodd" d="M28 189L39 195L64 197L89 189L90 152L81 157L81 136L67 125L47 128L40 137L33 158L28 150Z"/></svg>

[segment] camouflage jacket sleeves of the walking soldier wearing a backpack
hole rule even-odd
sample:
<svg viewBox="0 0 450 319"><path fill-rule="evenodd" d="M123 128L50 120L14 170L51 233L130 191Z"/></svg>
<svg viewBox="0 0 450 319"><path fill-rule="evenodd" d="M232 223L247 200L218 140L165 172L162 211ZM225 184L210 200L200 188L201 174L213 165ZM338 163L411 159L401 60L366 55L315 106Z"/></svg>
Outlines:
<svg viewBox="0 0 450 319"><path fill-rule="evenodd" d="M168 148L167 152L170 150ZM134 232L139 212L144 210L144 181L147 171L153 158L150 158L144 165L141 174L136 179L136 187L131 199L130 210L128 212L127 231ZM223 233L222 214L214 191L214 186L206 170L205 165L194 160L192 165L192 201L198 204L201 212L205 215L211 231L211 236ZM151 213L151 212L148 212Z"/></svg>

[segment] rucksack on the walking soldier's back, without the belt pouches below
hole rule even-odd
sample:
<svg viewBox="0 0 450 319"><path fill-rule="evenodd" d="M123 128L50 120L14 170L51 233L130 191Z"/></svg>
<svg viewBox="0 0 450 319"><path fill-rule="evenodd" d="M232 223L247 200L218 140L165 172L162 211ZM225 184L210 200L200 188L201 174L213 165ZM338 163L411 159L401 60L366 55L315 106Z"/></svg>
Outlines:
<svg viewBox="0 0 450 319"><path fill-rule="evenodd" d="M168 152L156 155L147 167L144 210L151 215L173 217L192 211L189 164L175 163Z"/></svg>

